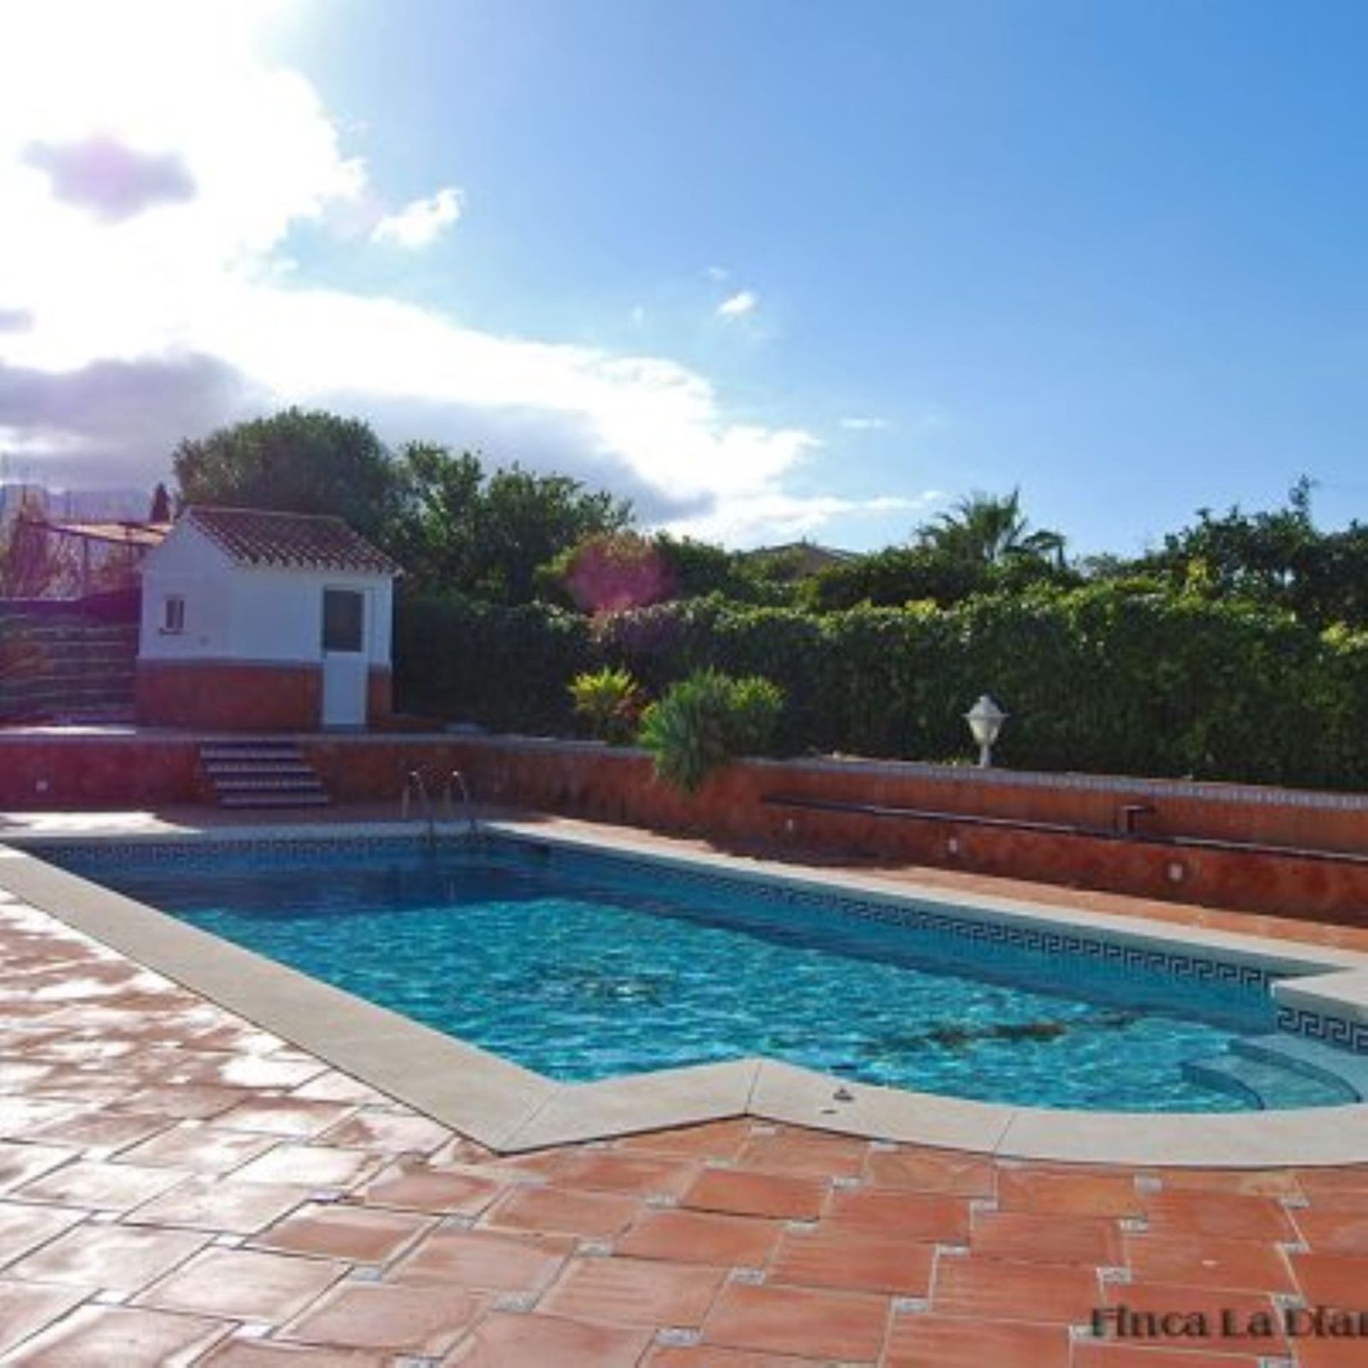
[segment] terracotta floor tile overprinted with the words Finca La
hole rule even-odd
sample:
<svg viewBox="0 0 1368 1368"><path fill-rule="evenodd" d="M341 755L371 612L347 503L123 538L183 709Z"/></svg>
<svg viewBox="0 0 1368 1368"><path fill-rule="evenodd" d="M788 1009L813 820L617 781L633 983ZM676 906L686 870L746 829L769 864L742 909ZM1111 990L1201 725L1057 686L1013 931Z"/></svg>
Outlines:
<svg viewBox="0 0 1368 1368"><path fill-rule="evenodd" d="M1155 1328L1159 1334L1153 1343L1166 1349L1209 1349L1220 1353L1264 1353L1285 1354L1287 1337L1283 1334L1282 1315L1272 1298L1252 1291L1231 1291L1228 1287L1189 1287L1166 1283L1109 1283L1105 1301L1111 1308L1124 1308L1127 1316L1141 1317L1124 1324L1099 1317L1094 1328L1097 1338L1119 1341L1127 1338L1120 1331L1129 1324L1134 1331ZM1196 1345L1193 1337L1167 1334L1164 1316L1176 1316L1182 1328L1182 1317L1196 1317L1204 1334ZM1157 1317L1145 1320L1144 1317ZM1270 1331L1267 1335L1264 1331ZM1257 1331L1257 1335L1254 1334ZM1135 1338L1133 1332L1130 1338ZM1252 1349L1250 1343L1256 1347Z"/></svg>

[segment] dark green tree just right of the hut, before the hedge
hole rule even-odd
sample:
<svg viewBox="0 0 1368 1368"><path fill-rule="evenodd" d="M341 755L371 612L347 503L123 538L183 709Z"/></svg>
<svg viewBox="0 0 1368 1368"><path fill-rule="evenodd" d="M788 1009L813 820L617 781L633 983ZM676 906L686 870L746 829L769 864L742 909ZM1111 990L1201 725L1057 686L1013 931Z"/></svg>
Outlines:
<svg viewBox="0 0 1368 1368"><path fill-rule="evenodd" d="M406 503L394 550L420 587L527 603L540 566L632 523L631 503L565 475L518 465L486 475L471 451L427 443L404 447L399 462Z"/></svg>

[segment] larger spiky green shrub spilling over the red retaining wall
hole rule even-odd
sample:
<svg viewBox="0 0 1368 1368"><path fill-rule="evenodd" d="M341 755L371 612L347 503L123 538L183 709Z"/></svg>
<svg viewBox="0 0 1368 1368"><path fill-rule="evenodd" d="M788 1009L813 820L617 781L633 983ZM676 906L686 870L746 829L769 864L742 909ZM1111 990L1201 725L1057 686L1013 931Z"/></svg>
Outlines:
<svg viewBox="0 0 1368 1368"><path fill-rule="evenodd" d="M769 680L699 670L646 710L640 740L655 773L692 793L733 755L767 750L782 707Z"/></svg>

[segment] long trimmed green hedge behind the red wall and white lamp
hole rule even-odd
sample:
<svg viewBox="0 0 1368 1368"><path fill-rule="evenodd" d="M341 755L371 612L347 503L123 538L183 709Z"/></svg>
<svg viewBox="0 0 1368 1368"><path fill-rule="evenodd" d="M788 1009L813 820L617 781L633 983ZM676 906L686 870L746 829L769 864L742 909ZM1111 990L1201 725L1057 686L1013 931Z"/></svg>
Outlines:
<svg viewBox="0 0 1368 1368"><path fill-rule="evenodd" d="M570 735L580 669L621 665L659 695L711 668L780 685L791 752L967 759L963 713L988 692L1011 714L1004 765L1368 787L1368 633L1112 584L821 616L694 599L592 629L404 605L397 654L401 699L490 726Z"/></svg>

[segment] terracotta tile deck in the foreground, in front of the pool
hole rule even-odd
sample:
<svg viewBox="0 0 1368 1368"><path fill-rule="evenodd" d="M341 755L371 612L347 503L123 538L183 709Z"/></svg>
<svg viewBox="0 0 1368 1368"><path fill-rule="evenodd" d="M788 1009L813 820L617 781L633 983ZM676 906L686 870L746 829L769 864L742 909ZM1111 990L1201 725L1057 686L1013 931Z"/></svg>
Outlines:
<svg viewBox="0 0 1368 1368"><path fill-rule="evenodd" d="M1368 1311L1368 1166L1070 1168L752 1120L499 1159L16 903L0 966L7 1364L1368 1363L1368 1323L1280 1328ZM1212 1335L1097 1338L1104 1308Z"/></svg>

